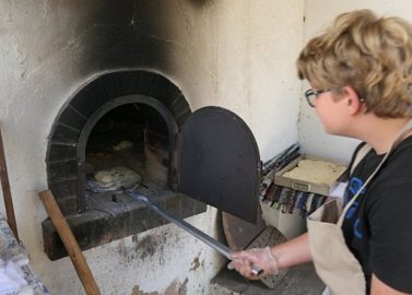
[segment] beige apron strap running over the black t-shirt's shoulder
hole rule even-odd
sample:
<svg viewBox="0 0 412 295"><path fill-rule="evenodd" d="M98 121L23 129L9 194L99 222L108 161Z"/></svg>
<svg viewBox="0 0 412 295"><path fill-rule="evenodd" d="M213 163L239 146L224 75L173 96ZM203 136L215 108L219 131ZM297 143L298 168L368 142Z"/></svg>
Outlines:
<svg viewBox="0 0 412 295"><path fill-rule="evenodd" d="M407 133L409 131L411 131L412 129L412 119L408 121L408 123L402 128L402 130L398 133L398 135L396 137L392 145L390 146L390 150L389 152L387 152L384 156L384 158L380 161L379 165L375 168L375 170L369 175L369 177L366 179L366 181L363 184L363 186L356 191L355 196L351 199L351 201L348 202L348 204L345 205L345 208L343 209L343 212L342 214L340 215L339 220L338 220L338 223L337 225L338 226L342 226L342 223L343 223L343 219L344 216L346 215L346 212L348 210L351 208L351 205L353 204L353 202L357 199L357 197L361 194L361 192L366 188L366 186L369 184L369 181L372 180L372 178L374 178L374 176L380 170L381 166L385 164L386 160L389 157L389 154L399 145L399 143L402 142L404 135L407 135ZM366 150L365 146L369 146L368 150ZM361 148L361 150L358 151L358 153L356 154L356 158L354 160L353 162L353 165L351 167L351 174L353 173L354 170L354 167L356 167L356 165L361 162L361 160L367 154L367 152L372 149L372 146L369 144L365 144L364 146ZM361 154L360 154L361 153ZM360 154L360 156L357 156Z"/></svg>

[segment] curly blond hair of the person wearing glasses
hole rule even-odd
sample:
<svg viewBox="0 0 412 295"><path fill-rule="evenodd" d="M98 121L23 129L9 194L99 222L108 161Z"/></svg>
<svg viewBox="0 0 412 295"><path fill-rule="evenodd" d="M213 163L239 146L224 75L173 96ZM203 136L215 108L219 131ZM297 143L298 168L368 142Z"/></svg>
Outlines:
<svg viewBox="0 0 412 295"><path fill-rule="evenodd" d="M337 93L352 86L378 117L412 117L412 25L370 10L343 13L307 43L297 72Z"/></svg>

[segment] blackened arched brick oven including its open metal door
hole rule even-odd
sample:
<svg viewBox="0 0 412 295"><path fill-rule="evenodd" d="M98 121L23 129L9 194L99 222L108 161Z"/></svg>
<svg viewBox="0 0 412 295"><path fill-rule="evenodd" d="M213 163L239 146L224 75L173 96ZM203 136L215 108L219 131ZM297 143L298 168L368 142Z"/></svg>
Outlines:
<svg viewBox="0 0 412 295"><path fill-rule="evenodd" d="M257 217L260 158L246 123L221 107L192 114L179 88L150 71L107 73L79 90L57 115L46 163L83 249L165 223L132 200L131 189L179 217L207 204ZM102 173L108 185L97 180ZM136 178L125 182L127 175ZM67 255L48 219L43 236L50 259Z"/></svg>

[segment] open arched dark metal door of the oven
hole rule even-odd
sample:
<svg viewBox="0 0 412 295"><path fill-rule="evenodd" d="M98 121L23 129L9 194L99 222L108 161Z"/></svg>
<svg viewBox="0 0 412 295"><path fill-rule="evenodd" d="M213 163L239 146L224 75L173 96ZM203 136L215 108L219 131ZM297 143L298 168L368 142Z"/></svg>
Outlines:
<svg viewBox="0 0 412 295"><path fill-rule="evenodd" d="M179 134L178 190L256 223L261 162L255 137L236 114L198 109Z"/></svg>

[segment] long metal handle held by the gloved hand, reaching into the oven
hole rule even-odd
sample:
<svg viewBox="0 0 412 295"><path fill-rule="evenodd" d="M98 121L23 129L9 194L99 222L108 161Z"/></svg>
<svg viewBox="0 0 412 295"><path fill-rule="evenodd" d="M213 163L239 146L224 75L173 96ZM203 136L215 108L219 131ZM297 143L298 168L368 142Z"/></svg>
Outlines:
<svg viewBox="0 0 412 295"><path fill-rule="evenodd" d="M184 221L184 220L181 220L179 217L176 217L176 216L172 215L169 212L167 212L167 211L165 211L165 210L156 206L151 201L149 201L149 199L146 197L144 197L142 194L139 194L137 192L132 192L132 191L129 191L129 196L133 200L137 200L141 204L144 204L145 206L150 208L151 210L153 210L154 212L156 212L157 214L160 214L161 216L163 216L165 220L167 220L167 221L176 224L177 226L179 226L180 228L185 229L186 232L188 232L192 236L195 236L198 239L200 239L201 241L205 243L207 245L209 245L210 247L212 247L214 250L216 250L217 252L220 252L221 255L223 255L227 259L231 259L229 255L231 255L232 250L227 246L225 246L222 243L220 243L219 240L215 240L214 238L208 236L207 234L204 234L200 229L196 228L191 224L187 223L186 221ZM259 275L262 272L263 272L262 269L260 269L260 268L258 268L256 266L252 267L252 270L251 270L252 274Z"/></svg>

